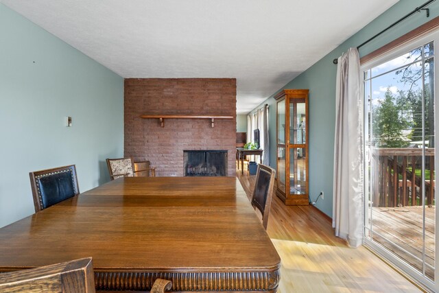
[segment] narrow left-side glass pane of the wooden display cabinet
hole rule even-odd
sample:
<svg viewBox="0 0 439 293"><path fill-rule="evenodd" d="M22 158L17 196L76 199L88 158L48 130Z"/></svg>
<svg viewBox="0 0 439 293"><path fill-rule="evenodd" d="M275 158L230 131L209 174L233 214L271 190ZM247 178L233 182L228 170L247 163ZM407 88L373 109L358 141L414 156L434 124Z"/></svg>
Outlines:
<svg viewBox="0 0 439 293"><path fill-rule="evenodd" d="M277 102L277 187L278 190L286 194L286 152L285 152L285 99Z"/></svg>

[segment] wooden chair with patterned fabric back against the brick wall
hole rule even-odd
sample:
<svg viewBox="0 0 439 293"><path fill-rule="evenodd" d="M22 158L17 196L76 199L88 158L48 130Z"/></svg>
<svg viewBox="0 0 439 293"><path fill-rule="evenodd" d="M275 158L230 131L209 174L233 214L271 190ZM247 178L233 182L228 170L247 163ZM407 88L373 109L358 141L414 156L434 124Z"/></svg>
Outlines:
<svg viewBox="0 0 439 293"><path fill-rule="evenodd" d="M111 180L115 180L121 177L138 176L137 174L140 175L145 173L147 174L147 176L149 176L150 172L151 176L156 176L156 168L150 167L149 161L134 163L134 160L131 157L121 159L107 159L107 166L108 172L110 172Z"/></svg>

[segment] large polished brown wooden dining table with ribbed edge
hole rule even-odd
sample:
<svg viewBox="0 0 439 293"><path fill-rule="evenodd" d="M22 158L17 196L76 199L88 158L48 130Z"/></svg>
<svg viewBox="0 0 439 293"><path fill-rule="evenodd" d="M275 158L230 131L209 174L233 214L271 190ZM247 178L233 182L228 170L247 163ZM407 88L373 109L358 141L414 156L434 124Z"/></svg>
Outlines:
<svg viewBox="0 0 439 293"><path fill-rule="evenodd" d="M93 257L97 291L276 292L279 258L235 177L127 177L0 228L0 272Z"/></svg>

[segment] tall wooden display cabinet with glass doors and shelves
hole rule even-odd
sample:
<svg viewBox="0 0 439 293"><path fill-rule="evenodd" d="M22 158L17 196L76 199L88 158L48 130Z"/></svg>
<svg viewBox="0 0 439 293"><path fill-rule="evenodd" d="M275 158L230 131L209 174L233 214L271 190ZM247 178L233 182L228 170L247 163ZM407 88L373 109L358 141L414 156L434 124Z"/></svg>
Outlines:
<svg viewBox="0 0 439 293"><path fill-rule="evenodd" d="M285 89L276 99L276 195L287 205L307 205L308 92Z"/></svg>

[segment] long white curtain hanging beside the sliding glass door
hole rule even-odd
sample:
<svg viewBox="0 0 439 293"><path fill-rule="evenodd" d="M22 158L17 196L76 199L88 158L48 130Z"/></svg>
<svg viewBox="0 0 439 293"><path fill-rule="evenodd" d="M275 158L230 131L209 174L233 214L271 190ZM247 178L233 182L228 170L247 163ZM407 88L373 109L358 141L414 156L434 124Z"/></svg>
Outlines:
<svg viewBox="0 0 439 293"><path fill-rule="evenodd" d="M353 247L363 244L362 89L358 50L351 48L337 63L333 228Z"/></svg>

